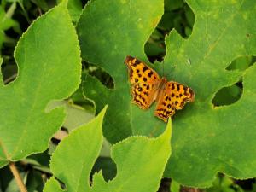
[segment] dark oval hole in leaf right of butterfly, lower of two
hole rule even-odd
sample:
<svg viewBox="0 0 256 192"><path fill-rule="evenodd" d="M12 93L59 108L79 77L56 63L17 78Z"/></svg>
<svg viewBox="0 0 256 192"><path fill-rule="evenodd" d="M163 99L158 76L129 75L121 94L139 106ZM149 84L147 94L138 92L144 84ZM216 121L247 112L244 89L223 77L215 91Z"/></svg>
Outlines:
<svg viewBox="0 0 256 192"><path fill-rule="evenodd" d="M224 106L235 103L241 98L242 89L241 82L237 82L229 87L224 87L218 90L212 99L212 104L214 106Z"/></svg>

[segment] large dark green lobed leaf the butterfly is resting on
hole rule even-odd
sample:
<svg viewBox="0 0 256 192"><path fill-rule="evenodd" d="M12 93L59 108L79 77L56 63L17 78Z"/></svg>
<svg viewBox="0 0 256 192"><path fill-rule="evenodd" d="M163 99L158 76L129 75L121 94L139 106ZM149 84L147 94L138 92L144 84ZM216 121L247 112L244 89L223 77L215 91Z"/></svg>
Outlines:
<svg viewBox="0 0 256 192"><path fill-rule="evenodd" d="M209 186L216 172L232 177L256 176L256 68L228 71L241 55L256 55L256 2L253 0L188 0L195 13L189 39L172 31L166 38L165 67L155 65L169 80L195 90L189 103L173 118L173 154L166 177L178 183ZM110 73L114 89L97 79L84 78L84 94L109 110L104 134L112 143L130 134L158 135L164 123L154 118L154 107L143 111L131 104L126 55L147 61L143 46L162 13L163 2L98 0L84 9L79 21L82 57ZM222 87L243 79L238 102L214 108L212 98ZM239 151L239 153L238 153Z"/></svg>

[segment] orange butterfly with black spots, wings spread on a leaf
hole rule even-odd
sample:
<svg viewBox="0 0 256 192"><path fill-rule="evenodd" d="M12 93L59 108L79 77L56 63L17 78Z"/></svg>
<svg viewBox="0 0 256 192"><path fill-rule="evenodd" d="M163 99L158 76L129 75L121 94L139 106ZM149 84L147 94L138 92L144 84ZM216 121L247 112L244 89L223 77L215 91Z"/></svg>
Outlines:
<svg viewBox="0 0 256 192"><path fill-rule="evenodd" d="M128 76L131 83L132 102L139 108L148 109L156 101L154 115L167 122L175 110L183 108L186 102L194 102L192 89L174 81L161 78L143 61L126 56Z"/></svg>

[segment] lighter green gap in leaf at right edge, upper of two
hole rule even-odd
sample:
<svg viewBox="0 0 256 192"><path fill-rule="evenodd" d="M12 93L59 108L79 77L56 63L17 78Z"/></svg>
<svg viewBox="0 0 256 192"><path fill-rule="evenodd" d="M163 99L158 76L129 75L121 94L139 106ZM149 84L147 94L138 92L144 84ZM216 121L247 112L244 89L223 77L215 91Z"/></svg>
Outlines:
<svg viewBox="0 0 256 192"><path fill-rule="evenodd" d="M256 56L247 55L236 58L231 64L226 67L227 70L240 70L244 71L256 62Z"/></svg>

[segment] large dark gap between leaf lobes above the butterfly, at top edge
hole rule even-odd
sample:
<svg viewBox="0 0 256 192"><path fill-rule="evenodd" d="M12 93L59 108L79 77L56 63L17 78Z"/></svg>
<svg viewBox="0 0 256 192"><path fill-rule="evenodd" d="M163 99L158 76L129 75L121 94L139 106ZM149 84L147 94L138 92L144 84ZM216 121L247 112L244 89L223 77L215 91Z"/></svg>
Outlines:
<svg viewBox="0 0 256 192"><path fill-rule="evenodd" d="M183 38L188 38L194 22L195 15L185 1L165 0L164 15L144 46L148 60L152 63L162 61L166 55L166 35L175 28Z"/></svg>

